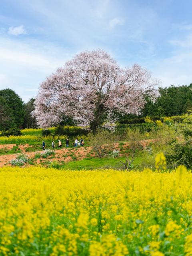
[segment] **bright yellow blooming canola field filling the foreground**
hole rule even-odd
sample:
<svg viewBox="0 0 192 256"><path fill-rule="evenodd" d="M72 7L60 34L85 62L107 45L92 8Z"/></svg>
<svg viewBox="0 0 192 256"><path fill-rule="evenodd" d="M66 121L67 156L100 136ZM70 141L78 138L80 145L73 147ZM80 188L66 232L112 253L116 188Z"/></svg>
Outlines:
<svg viewBox="0 0 192 256"><path fill-rule="evenodd" d="M0 168L0 255L192 255L192 174Z"/></svg>

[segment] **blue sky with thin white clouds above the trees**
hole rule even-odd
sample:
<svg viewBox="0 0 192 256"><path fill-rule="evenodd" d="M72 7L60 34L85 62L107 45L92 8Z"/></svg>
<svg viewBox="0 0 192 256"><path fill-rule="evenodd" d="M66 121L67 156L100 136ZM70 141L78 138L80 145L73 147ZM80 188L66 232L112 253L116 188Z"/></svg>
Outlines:
<svg viewBox="0 0 192 256"><path fill-rule="evenodd" d="M27 102L84 50L138 63L161 86L192 83L191 0L0 0L0 90Z"/></svg>

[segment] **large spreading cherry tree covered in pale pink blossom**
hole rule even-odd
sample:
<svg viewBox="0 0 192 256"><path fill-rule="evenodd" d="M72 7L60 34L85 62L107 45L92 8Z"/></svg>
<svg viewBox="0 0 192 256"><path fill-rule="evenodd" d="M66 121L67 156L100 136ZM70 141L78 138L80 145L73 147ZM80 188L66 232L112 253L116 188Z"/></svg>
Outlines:
<svg viewBox="0 0 192 256"><path fill-rule="evenodd" d="M58 124L63 115L95 131L105 120L120 114L138 114L144 106L144 92L153 93L158 81L138 64L120 68L103 50L81 52L42 84L35 100L38 124Z"/></svg>

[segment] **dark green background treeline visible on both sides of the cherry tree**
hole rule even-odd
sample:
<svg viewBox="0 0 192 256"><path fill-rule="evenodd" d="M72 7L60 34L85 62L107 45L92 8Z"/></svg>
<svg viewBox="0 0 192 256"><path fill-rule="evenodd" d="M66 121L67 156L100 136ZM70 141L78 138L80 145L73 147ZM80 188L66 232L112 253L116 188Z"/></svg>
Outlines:
<svg viewBox="0 0 192 256"><path fill-rule="evenodd" d="M121 124L136 124L144 122L145 116L154 120L163 116L179 116L192 108L192 83L187 86L170 86L158 88L159 97L154 102L150 91L146 92L146 104L140 116L120 116ZM37 128L36 119L32 116L34 110L34 98L24 103L20 96L11 89L0 90L0 131L20 128ZM64 116L63 121L58 124L75 125L71 118ZM59 126L59 129L62 129Z"/></svg>

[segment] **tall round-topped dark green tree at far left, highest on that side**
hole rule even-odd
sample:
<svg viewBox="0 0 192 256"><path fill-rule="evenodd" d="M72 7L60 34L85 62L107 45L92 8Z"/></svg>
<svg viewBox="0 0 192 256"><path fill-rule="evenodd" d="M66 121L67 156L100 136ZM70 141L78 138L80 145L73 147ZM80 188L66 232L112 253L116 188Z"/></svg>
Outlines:
<svg viewBox="0 0 192 256"><path fill-rule="evenodd" d="M0 90L0 96L6 100L7 105L12 110L12 122L16 124L16 127L22 126L25 115L22 99L11 89Z"/></svg>

